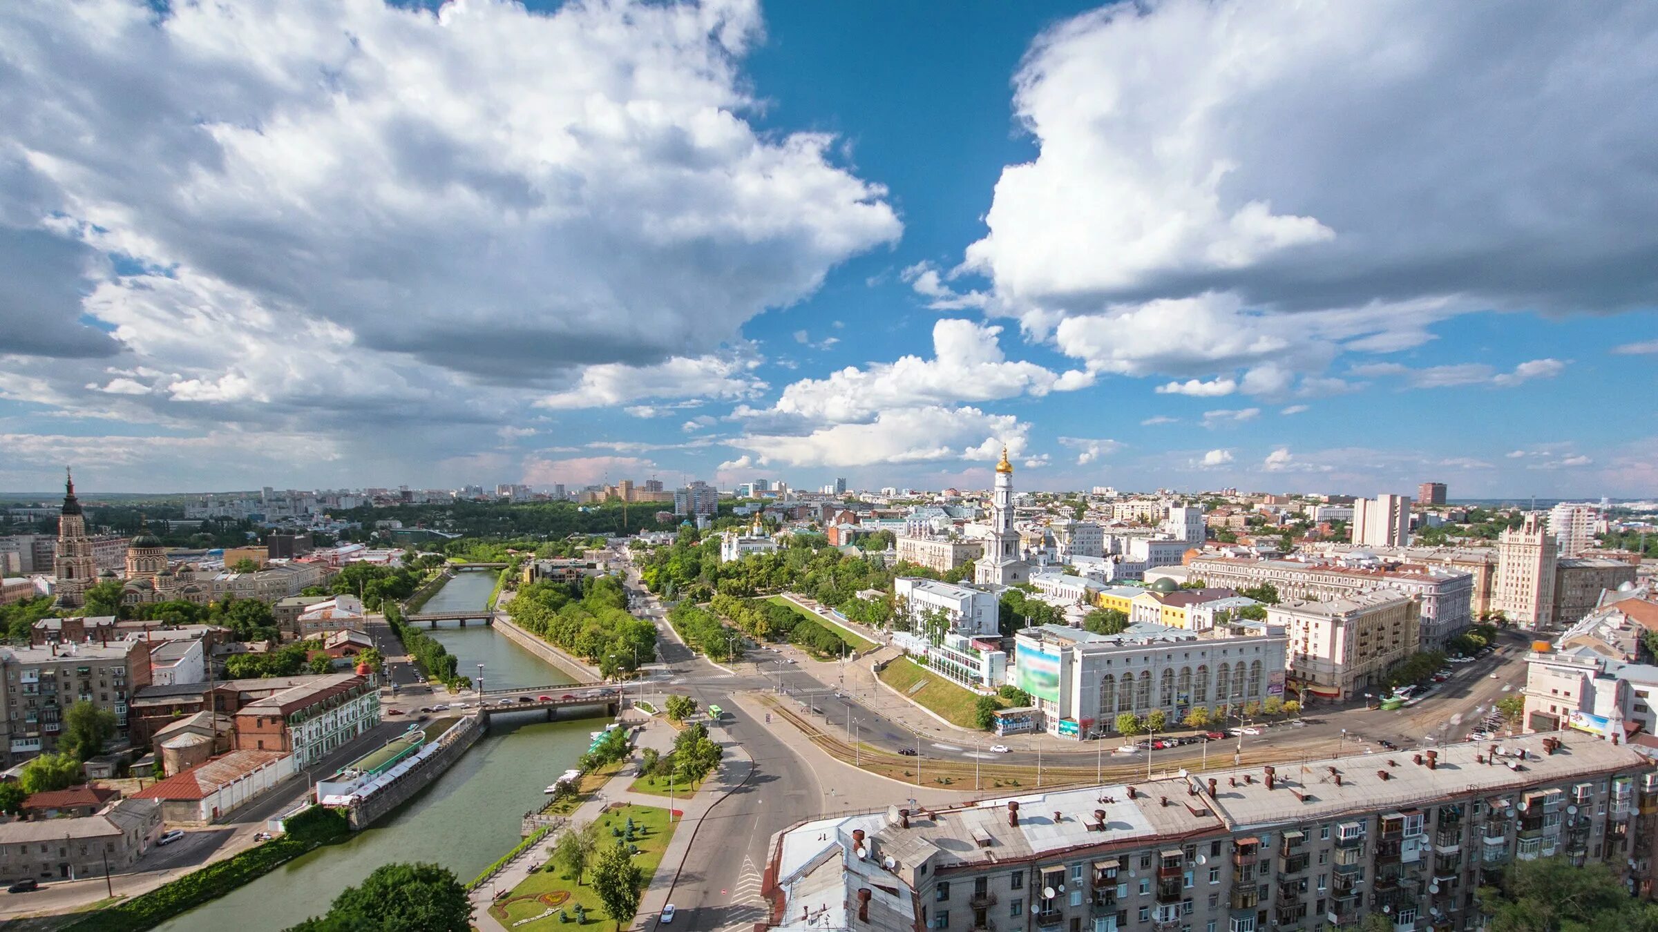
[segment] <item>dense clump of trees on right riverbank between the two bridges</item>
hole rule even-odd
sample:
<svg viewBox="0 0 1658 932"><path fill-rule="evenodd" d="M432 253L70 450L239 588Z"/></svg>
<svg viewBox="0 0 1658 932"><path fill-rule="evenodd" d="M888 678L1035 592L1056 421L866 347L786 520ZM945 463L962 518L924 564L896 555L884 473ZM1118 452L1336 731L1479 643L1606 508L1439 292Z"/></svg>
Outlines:
<svg viewBox="0 0 1658 932"><path fill-rule="evenodd" d="M532 582L507 602L512 622L599 667L605 677L632 673L657 655L657 625L627 610L615 577L580 584Z"/></svg>

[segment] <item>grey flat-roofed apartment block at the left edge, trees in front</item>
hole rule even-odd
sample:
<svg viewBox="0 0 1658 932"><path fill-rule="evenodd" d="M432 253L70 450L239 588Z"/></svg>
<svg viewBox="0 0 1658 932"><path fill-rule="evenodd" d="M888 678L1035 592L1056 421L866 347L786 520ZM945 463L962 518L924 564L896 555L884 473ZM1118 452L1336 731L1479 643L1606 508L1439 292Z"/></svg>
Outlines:
<svg viewBox="0 0 1658 932"><path fill-rule="evenodd" d="M81 700L113 711L116 733L124 736L128 700L133 690L149 685L149 650L141 640L3 647L0 668L5 670L0 731L10 766L56 751L63 713Z"/></svg>

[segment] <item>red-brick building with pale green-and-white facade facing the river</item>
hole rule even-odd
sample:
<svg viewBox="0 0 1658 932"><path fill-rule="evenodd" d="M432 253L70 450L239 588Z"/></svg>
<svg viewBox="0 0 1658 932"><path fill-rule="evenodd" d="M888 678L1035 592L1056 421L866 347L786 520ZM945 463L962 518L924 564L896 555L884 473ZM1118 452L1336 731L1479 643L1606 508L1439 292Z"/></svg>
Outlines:
<svg viewBox="0 0 1658 932"><path fill-rule="evenodd" d="M285 751L305 769L380 725L373 677L333 673L272 693L235 713L235 750Z"/></svg>

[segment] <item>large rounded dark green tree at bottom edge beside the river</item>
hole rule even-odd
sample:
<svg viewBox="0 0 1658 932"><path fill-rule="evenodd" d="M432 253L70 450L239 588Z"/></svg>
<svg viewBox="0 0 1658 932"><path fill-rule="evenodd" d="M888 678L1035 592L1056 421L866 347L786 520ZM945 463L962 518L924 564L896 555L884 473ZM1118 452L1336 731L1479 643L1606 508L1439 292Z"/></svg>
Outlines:
<svg viewBox="0 0 1658 932"><path fill-rule="evenodd" d="M322 919L290 932L469 932L473 904L454 872L436 864L393 862L333 897Z"/></svg>

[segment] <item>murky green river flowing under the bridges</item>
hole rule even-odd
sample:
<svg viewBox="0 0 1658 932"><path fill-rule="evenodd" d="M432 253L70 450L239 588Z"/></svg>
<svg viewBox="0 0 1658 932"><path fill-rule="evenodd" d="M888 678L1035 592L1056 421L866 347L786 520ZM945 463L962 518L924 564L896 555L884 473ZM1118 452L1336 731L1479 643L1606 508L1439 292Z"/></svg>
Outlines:
<svg viewBox="0 0 1658 932"><path fill-rule="evenodd" d="M496 585L492 572L456 574L428 612L481 607ZM492 629L438 629L431 633L459 658L459 672L484 687L537 687L572 682ZM587 751L595 720L536 721L534 715L501 716L471 751L424 793L343 844L317 849L277 867L230 896L161 925L166 932L280 930L328 910L345 887L391 861L429 861L449 867L464 884L519 839L524 813L541 808L542 788Z"/></svg>

